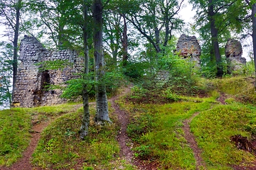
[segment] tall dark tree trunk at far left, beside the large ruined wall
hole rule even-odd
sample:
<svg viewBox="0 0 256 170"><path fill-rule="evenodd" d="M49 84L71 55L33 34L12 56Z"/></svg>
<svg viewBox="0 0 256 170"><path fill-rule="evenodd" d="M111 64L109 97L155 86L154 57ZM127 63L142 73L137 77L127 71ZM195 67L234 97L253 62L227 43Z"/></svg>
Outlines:
<svg viewBox="0 0 256 170"><path fill-rule="evenodd" d="M18 71L18 30L19 30L19 18L21 15L21 0L18 0L16 6L16 23L14 28L14 62L13 62L13 94L16 88L16 79L17 79L17 71ZM12 95L12 99L13 99Z"/></svg>

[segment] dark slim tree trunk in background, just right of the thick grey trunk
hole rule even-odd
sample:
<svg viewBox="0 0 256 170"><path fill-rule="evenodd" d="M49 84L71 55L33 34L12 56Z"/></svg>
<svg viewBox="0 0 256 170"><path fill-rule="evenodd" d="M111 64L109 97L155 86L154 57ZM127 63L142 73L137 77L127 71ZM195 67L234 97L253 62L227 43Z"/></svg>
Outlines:
<svg viewBox="0 0 256 170"><path fill-rule="evenodd" d="M123 66L127 65L128 60L128 37L127 37L127 21L125 13L121 14L123 20L124 20L124 30L122 32L122 62Z"/></svg>

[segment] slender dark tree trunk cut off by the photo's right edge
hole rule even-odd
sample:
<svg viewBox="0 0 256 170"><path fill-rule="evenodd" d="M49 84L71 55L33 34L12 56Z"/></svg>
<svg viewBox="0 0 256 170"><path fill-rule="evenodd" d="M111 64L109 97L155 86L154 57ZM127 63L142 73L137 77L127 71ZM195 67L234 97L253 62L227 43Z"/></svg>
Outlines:
<svg viewBox="0 0 256 170"><path fill-rule="evenodd" d="M255 64L255 89L256 89L256 4L252 4L252 44L253 44L253 60Z"/></svg>

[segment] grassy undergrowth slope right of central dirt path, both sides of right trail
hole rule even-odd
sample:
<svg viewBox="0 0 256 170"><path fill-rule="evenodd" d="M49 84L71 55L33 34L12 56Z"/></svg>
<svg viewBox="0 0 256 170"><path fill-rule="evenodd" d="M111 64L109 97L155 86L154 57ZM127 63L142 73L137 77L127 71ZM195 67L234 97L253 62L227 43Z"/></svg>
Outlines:
<svg viewBox="0 0 256 170"><path fill-rule="evenodd" d="M135 87L131 96L119 101L131 114L127 132L135 143L135 157L157 162L160 169L196 169L181 122L199 112L191 130L202 149L206 169L232 169L233 165L255 162L252 153L238 150L230 141L232 135L240 134L250 140L256 133L252 79L226 77L202 82L201 89L208 89L204 98L182 96L164 88L156 96L156 89ZM226 106L215 101L222 94L227 98ZM156 102L148 102L152 101L149 98Z"/></svg>

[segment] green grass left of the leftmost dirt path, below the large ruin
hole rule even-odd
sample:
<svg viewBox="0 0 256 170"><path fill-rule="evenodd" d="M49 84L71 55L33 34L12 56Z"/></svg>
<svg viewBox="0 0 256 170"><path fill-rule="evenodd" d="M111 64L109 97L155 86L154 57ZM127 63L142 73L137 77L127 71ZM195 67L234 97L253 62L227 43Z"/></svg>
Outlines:
<svg viewBox="0 0 256 170"><path fill-rule="evenodd" d="M73 110L73 104L0 111L0 166L11 166L31 140L31 122L41 123Z"/></svg>

